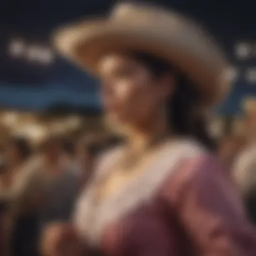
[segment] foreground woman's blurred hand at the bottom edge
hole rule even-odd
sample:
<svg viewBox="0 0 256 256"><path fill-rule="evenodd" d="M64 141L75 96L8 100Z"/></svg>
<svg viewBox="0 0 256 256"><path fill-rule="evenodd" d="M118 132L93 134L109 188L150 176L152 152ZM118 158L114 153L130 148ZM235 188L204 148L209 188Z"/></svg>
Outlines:
<svg viewBox="0 0 256 256"><path fill-rule="evenodd" d="M55 223L44 231L41 251L43 256L80 256L84 244L73 226Z"/></svg>

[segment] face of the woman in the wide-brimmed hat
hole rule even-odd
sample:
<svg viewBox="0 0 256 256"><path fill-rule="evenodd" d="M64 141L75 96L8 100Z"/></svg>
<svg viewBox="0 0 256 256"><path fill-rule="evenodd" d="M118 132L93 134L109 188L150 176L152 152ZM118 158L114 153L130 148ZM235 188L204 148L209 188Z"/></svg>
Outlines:
<svg viewBox="0 0 256 256"><path fill-rule="evenodd" d="M172 84L167 76L154 77L145 65L121 54L106 55L98 68L110 123L142 125L162 110Z"/></svg>

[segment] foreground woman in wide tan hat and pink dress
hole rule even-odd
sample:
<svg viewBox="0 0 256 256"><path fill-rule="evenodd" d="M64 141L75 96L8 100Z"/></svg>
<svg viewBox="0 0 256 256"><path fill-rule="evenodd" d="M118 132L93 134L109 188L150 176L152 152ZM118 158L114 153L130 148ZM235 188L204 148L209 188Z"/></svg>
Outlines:
<svg viewBox="0 0 256 256"><path fill-rule="evenodd" d="M52 224L42 255L254 256L255 230L206 131L229 64L189 19L146 3L62 28L57 49L101 81L125 143L101 156L73 224Z"/></svg>

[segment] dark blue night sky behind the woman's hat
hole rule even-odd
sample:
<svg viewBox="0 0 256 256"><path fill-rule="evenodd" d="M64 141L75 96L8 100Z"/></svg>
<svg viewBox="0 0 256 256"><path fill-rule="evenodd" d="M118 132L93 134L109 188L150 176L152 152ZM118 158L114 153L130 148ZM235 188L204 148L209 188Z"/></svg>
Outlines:
<svg viewBox="0 0 256 256"><path fill-rule="evenodd" d="M152 1L151 1L152 2ZM191 15L208 28L236 65L247 67L255 60L234 57L238 40L256 42L256 3L253 1L173 0L153 1ZM88 15L107 13L110 0L2 0L0 9L0 106L42 110L54 102L98 106L95 82L82 71L57 57L51 67L40 67L7 55L11 38L50 46L51 32L59 25ZM236 84L224 110L238 110L241 95L255 93L243 79Z"/></svg>

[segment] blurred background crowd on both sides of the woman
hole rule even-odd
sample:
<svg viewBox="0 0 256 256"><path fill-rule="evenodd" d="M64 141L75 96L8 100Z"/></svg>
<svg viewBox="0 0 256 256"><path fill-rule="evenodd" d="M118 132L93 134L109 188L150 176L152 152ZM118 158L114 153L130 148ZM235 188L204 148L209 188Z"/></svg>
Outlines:
<svg viewBox="0 0 256 256"><path fill-rule="evenodd" d="M245 108L246 135L228 133L214 143L216 154L228 166L228 176L238 185L251 222L256 224L256 101L251 103L254 110ZM44 228L72 220L98 157L119 143L115 136L88 134L74 140L49 135L34 148L26 137L11 137L1 152L1 255L40 255Z"/></svg>

